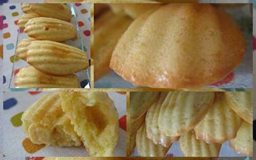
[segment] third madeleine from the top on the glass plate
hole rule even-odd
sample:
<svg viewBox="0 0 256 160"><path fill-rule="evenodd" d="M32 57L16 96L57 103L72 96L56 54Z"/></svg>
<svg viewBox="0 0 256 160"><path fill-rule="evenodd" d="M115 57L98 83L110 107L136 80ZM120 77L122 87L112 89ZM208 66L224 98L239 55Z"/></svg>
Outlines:
<svg viewBox="0 0 256 160"><path fill-rule="evenodd" d="M49 40L31 42L27 62L37 70L51 75L69 75L89 66L86 52Z"/></svg>

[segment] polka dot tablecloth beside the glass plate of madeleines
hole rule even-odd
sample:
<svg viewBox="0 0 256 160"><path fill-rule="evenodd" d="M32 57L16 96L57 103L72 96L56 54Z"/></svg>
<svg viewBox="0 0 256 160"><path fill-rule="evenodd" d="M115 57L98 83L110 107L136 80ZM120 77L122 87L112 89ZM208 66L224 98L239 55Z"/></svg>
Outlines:
<svg viewBox="0 0 256 160"><path fill-rule="evenodd" d="M72 4L68 4L69 7ZM82 40L82 45L84 51L87 52L88 57L90 58L90 47L91 47L91 19L90 19L90 4L73 4L75 12L77 14L77 25L80 29L80 36ZM8 3L3 6L3 24L1 28L3 30L3 48L4 48L4 75L3 75L3 83L4 89L15 88L13 84L14 76L12 73L17 73L19 68L25 67L29 65L26 61L19 59L15 56L15 47L16 41L20 41L23 38L27 38L27 34L23 31L18 33L18 25L17 21L20 16L22 16L23 11L21 9L20 4L16 3ZM71 20L72 24L75 24L75 18L73 17ZM75 41L69 40L66 41L67 44L73 45L74 47L80 48L81 45L79 43L79 39ZM14 64L14 65L13 65ZM13 72L12 72L13 71ZM89 70L90 73L90 70ZM80 86L85 87L88 83L87 81L87 72L81 71L76 73Z"/></svg>

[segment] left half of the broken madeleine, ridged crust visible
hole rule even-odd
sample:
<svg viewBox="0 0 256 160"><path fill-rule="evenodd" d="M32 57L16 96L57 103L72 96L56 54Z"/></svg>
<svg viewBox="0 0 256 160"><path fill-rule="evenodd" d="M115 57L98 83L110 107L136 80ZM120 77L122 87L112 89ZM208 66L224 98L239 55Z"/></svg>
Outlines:
<svg viewBox="0 0 256 160"><path fill-rule="evenodd" d="M82 143L67 115L61 109L59 93L44 95L22 115L23 129L34 144L59 147Z"/></svg>

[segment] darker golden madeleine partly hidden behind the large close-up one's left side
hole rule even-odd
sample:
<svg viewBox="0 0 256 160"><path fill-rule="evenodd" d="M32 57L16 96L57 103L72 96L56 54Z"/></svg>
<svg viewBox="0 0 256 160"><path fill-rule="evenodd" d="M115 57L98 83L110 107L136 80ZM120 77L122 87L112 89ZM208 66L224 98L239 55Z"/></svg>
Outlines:
<svg viewBox="0 0 256 160"><path fill-rule="evenodd" d="M132 23L132 19L115 15L111 11L103 13L94 23L94 80L111 71L109 64L116 43Z"/></svg>

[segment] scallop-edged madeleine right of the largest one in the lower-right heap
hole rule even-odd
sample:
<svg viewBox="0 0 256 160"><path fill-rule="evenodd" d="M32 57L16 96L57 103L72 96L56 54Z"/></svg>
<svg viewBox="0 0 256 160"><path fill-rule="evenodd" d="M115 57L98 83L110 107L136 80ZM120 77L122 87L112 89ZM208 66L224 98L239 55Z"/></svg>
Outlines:
<svg viewBox="0 0 256 160"><path fill-rule="evenodd" d="M194 128L198 140L224 143L237 136L241 118L228 105L224 93L215 93L215 101L204 119Z"/></svg>

